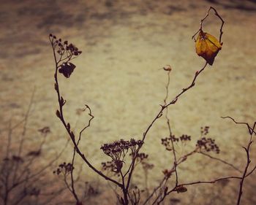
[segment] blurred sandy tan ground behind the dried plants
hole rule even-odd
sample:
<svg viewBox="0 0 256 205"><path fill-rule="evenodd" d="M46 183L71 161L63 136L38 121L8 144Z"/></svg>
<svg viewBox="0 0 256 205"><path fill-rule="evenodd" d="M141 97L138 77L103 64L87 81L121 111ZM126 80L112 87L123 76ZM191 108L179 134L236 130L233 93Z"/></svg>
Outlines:
<svg viewBox="0 0 256 205"><path fill-rule="evenodd" d="M244 169L246 155L241 146L248 142L246 128L223 120L255 121L255 32L256 4L253 1L3 1L0 7L0 128L2 144L6 128L22 119L31 94L36 88L33 112L29 117L29 145L38 144L34 137L38 128L50 126L52 134L45 147L47 163L51 154L64 146L67 136L55 116L56 93L53 89L53 56L48 34L68 39L83 51L74 63L77 68L69 80L61 77L61 90L67 99L67 119L77 128L87 122L76 109L89 104L95 116L83 137L81 150L91 162L109 160L99 147L115 139L140 139L143 131L159 110L165 97L167 75L160 68L170 64L170 98L189 85L203 58L195 53L191 39L199 20L210 6L217 8L225 20L223 49L212 68L199 77L195 88L170 107L169 116L176 136L189 134L192 142L178 155L192 149L200 135L200 127L209 125L221 158ZM205 30L218 34L219 20L211 15ZM155 167L149 174L154 187L162 170L172 163L160 139L167 135L165 120L160 119L148 134L143 151ZM4 146L3 146L4 147ZM1 151L4 148L1 146ZM70 160L72 148L62 156ZM252 146L252 166L255 164ZM60 160L61 162L61 160ZM78 160L79 163L79 160ZM84 167L85 180L99 180ZM192 157L181 166L181 182L215 179L236 175L228 166L202 156ZM49 171L49 176L52 176ZM256 204L255 174L246 179L242 204ZM143 172L134 182L143 187ZM61 183L58 181L56 183ZM104 182L100 180L104 185ZM114 204L113 193L104 186L92 204ZM235 204L238 182L222 185L196 185L189 191L171 197L179 204ZM186 196L187 195L187 196ZM71 198L67 192L67 198ZM112 200L112 201L111 201ZM168 200L166 204L168 204ZM100 203L99 203L100 201Z"/></svg>

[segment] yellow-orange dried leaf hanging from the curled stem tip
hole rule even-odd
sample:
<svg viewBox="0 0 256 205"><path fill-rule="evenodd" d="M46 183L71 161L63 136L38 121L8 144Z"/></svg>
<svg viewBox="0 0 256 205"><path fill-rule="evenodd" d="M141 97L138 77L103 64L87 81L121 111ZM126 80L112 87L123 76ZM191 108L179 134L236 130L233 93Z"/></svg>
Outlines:
<svg viewBox="0 0 256 205"><path fill-rule="evenodd" d="M195 50L197 55L202 56L207 63L212 65L214 63L214 58L221 49L222 45L214 36L203 31L199 32L197 41L195 42Z"/></svg>

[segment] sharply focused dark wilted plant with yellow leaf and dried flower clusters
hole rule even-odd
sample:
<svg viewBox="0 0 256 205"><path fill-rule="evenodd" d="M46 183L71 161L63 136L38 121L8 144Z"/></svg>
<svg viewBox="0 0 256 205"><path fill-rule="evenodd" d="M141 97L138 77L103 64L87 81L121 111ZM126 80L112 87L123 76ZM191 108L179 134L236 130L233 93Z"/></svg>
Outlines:
<svg viewBox="0 0 256 205"><path fill-rule="evenodd" d="M211 34L208 34L203 31L203 21L206 20L206 18L209 15L209 12L213 10L214 14L222 21L222 25L220 26L219 29L219 40L212 36ZM70 172L71 174L71 186L70 186L70 191L72 192L73 196L75 197L76 204L82 204L82 200L78 197L76 191L75 191L75 185L74 185L74 179L72 177L72 170L74 167L74 158L75 155L78 154L80 158L83 159L84 163L89 166L90 169L92 169L96 174L98 174L100 177L103 179L107 180L108 182L111 182L113 185L116 185L120 192L116 192L117 198L118 198L118 203L122 205L127 205L127 204L161 204L162 201L165 200L166 196L170 195L170 193L176 192L176 193L184 193L187 191L187 187L189 185L195 185L195 184L200 184L200 183L214 183L217 181L221 180L226 180L226 179L239 179L241 180L241 186L240 186L240 191L238 193L238 202L237 204L240 203L240 198L241 198L241 193L242 193L242 187L244 183L245 177L249 176L249 174L252 174L252 172L256 169L252 169L251 171L248 171L249 167L249 148L250 145L252 144L252 135L255 134L255 125L253 128L249 127L248 124L248 129L249 133L251 134L251 138L249 141L249 144L246 148L247 153L247 165L246 169L244 171L240 171L238 168L233 166L231 163L227 163L225 160L222 160L220 158L215 158L214 156L209 155L209 152L215 152L219 154L219 146L216 144L215 140L207 137L206 135L208 134L208 129L209 127L205 127L201 129L201 136L197 140L197 143L195 144L195 148L191 150L190 152L187 152L187 154L182 155L182 156L177 156L176 154L176 143L184 143L184 142L189 142L191 140L191 136L188 136L186 134L176 137L172 131L171 131L171 126L170 126L170 119L168 117L168 109L170 105L176 104L178 101L178 98L184 93L187 92L187 90L193 88L195 86L197 77L206 69L206 66L213 65L214 59L216 58L217 54L219 53L219 50L222 49L222 28L224 25L224 20L222 20L221 16L218 14L217 10L214 9L213 7L210 7L208 9L208 12L206 14L206 17L203 18L200 21L200 28L196 32L194 36L192 36L193 39L195 39L195 36L197 35L197 39L195 39L195 47L196 47L196 53L197 55L200 55L206 60L205 65L203 68L195 72L195 77L192 79L192 82L187 86L187 88L183 88L180 93L178 93L173 100L167 101L168 97L168 87L170 84L170 72L171 72L171 67L166 66L164 67L164 70L167 71L167 85L166 85L166 96L164 99L164 104L161 105L159 112L157 115L154 117L154 119L151 121L151 123L148 125L146 128L146 131L143 132L143 136L139 140L135 139L130 139L130 140L118 140L115 142L110 142L103 144L102 147L100 148L105 155L108 155L110 157L110 161L102 163L102 169L103 171L108 171L108 173L104 173L100 171L99 169L95 168L91 162L89 162L89 159L86 158L86 155L83 154L82 150L80 150L79 143L81 136L84 131L86 131L86 128L89 128L91 125L91 120L94 118L94 116L91 113L91 108L86 105L84 111L88 110L89 111L89 116L91 117L89 120L89 123L78 132L78 135L75 136L75 131L73 131L72 125L67 122L66 118L64 117L64 112L63 112L63 107L66 104L66 100L64 100L63 96L61 96L61 90L59 87L59 73L63 74L64 77L69 78L72 72L75 69L75 65L71 63L72 59L77 58L80 54L81 51L78 50L75 45L69 44L67 41L62 42L61 39L57 39L56 36L53 34L50 34L49 39L50 39L50 45L53 48L53 57L54 57L54 62L55 62L55 74L54 74L54 79L55 79L55 90L58 96L58 102L59 102L59 109L56 111L57 117L61 120L61 123L64 125L64 128L67 131L67 134L69 134L69 138L72 140L72 144L74 146L74 152L73 152L73 158L72 158L72 163L69 164L69 170L67 171L65 165L61 165L61 169L58 171L57 174L61 173L64 167L64 171ZM165 169L163 172L163 179L159 183L157 187L154 188L154 190L149 193L149 190L147 189L146 192L143 192L143 190L140 190L138 186L132 185L132 176L135 171L135 167L141 163L143 166L144 171L147 173L149 169L153 167L150 163L146 162L148 155L146 155L143 152L140 152L140 149L143 147L144 142L146 141L146 136L148 134L148 131L151 130L151 127L156 123L156 121L162 117L162 115L165 114L165 119L167 122L167 129L169 131L169 136L166 136L165 138L162 139L162 144L165 146L165 149L169 152L172 153L173 156L173 164L171 164L170 168ZM231 117L230 117L231 118ZM235 121L235 120L234 120ZM189 158L191 155L195 154L202 154L205 155L208 158L211 158L212 160L218 160L219 162L225 163L227 166L233 167L233 169L236 169L240 172L243 173L242 177L222 177L219 179L214 179L211 181L200 181L200 182L188 182L188 183L183 183L181 184L179 182L178 178L178 171L177 167L183 163L184 161ZM129 164L127 166L124 166L124 163L127 163L127 156L131 156L132 160L129 161ZM110 176L109 173L112 173L113 176ZM167 186L167 182L171 177L175 177L175 183L173 187ZM143 201L141 200L141 193L146 193L146 196L143 197Z"/></svg>

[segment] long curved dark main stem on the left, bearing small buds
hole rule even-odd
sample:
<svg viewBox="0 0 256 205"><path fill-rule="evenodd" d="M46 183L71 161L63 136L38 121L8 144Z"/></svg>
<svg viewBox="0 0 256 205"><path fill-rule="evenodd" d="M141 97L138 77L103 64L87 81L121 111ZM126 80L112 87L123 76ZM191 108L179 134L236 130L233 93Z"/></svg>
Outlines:
<svg viewBox="0 0 256 205"><path fill-rule="evenodd" d="M122 185L117 182L114 179L111 179L110 177L106 176L105 174L103 174L101 171L99 171L98 169L96 169L90 162L89 160L87 160L86 156L83 155L83 153L80 151L77 142L75 142L75 135L72 133L72 131L69 130L69 128L67 127L67 123L64 119L64 114L63 114L63 104L61 104L61 94L60 94L60 90L59 90L59 81L58 81L58 69L59 69L59 63L60 61L57 61L56 58L56 53L55 53L55 47L53 46L53 40L50 39L50 43L51 46L53 48L53 57L54 57L54 61L55 61L55 74L54 74L54 79L55 79L55 88L56 88L56 93L58 96L58 101L59 101L59 112L60 112L60 120L62 122L62 124L64 125L64 127L66 128L67 133L69 134L70 139L72 140L72 143L75 147L76 152L78 153L78 155L80 155L80 158L83 159L83 161L89 166L89 168L91 168L92 170L94 170L97 174L99 174L99 176L103 177L106 180L109 180L110 182L115 183L116 185L118 185L118 187L122 187ZM70 60L70 59L69 59Z"/></svg>

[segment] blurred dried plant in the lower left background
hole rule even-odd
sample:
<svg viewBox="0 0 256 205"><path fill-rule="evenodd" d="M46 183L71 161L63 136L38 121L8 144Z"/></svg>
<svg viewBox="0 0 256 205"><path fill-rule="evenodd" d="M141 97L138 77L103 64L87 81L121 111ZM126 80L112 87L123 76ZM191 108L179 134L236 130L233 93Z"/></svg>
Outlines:
<svg viewBox="0 0 256 205"><path fill-rule="evenodd" d="M45 165L39 163L45 152L44 147L48 135L50 135L50 128L45 126L38 130L39 143L33 146L33 149L29 149L27 146L26 142L29 141L29 136L26 134L26 129L33 99L34 93L23 120L15 125L12 125L13 120L10 120L7 130L1 132L3 138L7 133L7 144L4 141L1 144L3 149L0 163L0 204L49 204L65 190L64 187L50 189L52 184L45 181L49 169L60 158L67 143L61 152L56 153L56 156ZM22 128L21 133L17 134L15 130L20 127ZM19 139L18 142L17 139ZM17 143L18 150L12 146Z"/></svg>

